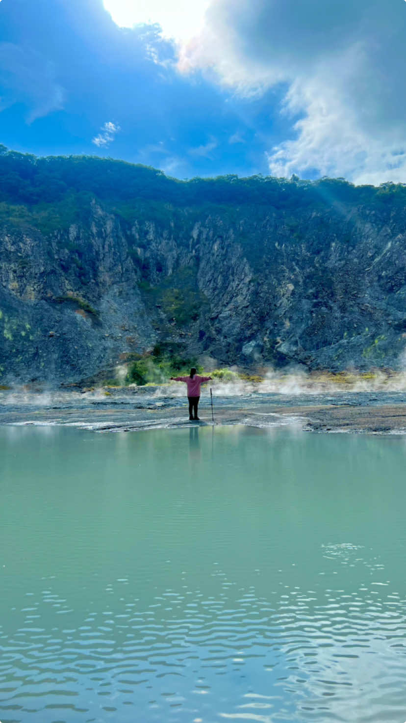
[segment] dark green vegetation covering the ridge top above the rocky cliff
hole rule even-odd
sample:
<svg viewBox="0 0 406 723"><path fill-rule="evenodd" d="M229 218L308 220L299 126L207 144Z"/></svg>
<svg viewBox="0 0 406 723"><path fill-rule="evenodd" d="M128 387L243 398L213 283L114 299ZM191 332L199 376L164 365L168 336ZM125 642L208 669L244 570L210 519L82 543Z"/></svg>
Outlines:
<svg viewBox="0 0 406 723"><path fill-rule="evenodd" d="M0 201L12 206L37 206L38 213L52 226L46 205L56 205L56 214L72 217L80 200L89 194L111 202L118 213L131 218L129 202L149 200L182 207L202 204L269 205L275 208L298 208L309 205L331 205L339 202L390 200L406 204L405 184L355 186L345 179L323 178L317 181L276 179L272 176L236 175L217 178L195 178L189 181L165 176L149 166L95 156L48 156L37 158L28 153L9 151L0 145ZM58 206L61 204L61 206ZM42 208L41 208L41 205ZM70 211L68 213L68 209ZM5 208L0 207L1 215ZM14 218L24 218L24 211L13 210Z"/></svg>

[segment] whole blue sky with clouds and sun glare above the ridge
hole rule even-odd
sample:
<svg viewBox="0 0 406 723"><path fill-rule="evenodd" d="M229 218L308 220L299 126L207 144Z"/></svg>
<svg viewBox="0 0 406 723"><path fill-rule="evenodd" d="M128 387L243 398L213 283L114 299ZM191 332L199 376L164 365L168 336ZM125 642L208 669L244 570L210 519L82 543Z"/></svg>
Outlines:
<svg viewBox="0 0 406 723"><path fill-rule="evenodd" d="M0 142L406 182L405 43L404 0L0 0Z"/></svg>

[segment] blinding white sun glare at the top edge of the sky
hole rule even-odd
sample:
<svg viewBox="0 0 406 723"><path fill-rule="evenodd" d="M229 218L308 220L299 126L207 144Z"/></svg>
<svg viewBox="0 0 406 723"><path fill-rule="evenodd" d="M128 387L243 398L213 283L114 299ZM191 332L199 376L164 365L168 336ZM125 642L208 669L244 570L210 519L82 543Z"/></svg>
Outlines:
<svg viewBox="0 0 406 723"><path fill-rule="evenodd" d="M185 43L199 33L210 0L103 0L120 27L157 23L165 38Z"/></svg>

